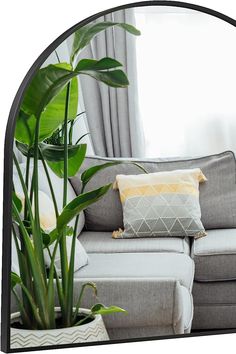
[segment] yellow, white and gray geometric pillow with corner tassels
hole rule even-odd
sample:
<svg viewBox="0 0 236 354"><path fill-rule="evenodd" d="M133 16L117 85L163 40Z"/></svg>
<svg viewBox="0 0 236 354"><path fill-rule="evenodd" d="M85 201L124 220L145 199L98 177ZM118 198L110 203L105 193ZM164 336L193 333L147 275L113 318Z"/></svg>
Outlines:
<svg viewBox="0 0 236 354"><path fill-rule="evenodd" d="M117 175L124 230L113 238L206 236L201 222L199 168L140 175Z"/></svg>

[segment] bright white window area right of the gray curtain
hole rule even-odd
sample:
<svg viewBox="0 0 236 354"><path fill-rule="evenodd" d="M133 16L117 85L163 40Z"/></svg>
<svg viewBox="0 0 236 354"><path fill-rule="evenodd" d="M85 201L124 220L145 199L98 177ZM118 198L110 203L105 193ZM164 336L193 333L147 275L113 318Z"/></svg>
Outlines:
<svg viewBox="0 0 236 354"><path fill-rule="evenodd" d="M145 155L236 152L236 29L184 9L135 16Z"/></svg>

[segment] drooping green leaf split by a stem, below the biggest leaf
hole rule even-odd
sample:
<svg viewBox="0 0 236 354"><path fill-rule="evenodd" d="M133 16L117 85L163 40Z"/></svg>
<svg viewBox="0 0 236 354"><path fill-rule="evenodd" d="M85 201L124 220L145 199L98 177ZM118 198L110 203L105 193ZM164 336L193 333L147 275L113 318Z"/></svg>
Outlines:
<svg viewBox="0 0 236 354"><path fill-rule="evenodd" d="M46 145L46 144L45 144ZM64 176L64 147L54 146L44 150L43 157L51 170L60 178ZM79 144L68 146L68 177L73 177L79 171L86 154L87 145Z"/></svg>

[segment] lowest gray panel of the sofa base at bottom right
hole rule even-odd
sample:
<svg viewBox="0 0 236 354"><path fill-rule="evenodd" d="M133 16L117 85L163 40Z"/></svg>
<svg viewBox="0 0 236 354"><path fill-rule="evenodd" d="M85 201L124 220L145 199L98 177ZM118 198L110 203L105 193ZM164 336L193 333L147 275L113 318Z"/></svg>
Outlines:
<svg viewBox="0 0 236 354"><path fill-rule="evenodd" d="M236 305L196 305L192 329L236 328Z"/></svg>

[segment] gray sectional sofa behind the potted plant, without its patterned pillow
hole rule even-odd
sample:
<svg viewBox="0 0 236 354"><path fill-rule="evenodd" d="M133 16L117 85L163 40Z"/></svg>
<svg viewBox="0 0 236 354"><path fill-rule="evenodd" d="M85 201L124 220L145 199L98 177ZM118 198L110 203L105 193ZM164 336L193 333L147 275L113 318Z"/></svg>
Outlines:
<svg viewBox="0 0 236 354"><path fill-rule="evenodd" d="M87 157L82 170L107 162ZM135 160L137 161L137 160ZM89 264L75 273L78 289L93 280L99 300L128 310L107 316L111 339L236 328L236 162L231 151L193 159L138 160L148 172L199 167L208 181L200 185L206 237L112 239L122 227L117 191L110 190L85 211L79 240ZM138 174L132 164L100 171L87 190L115 181L117 174ZM80 178L71 180L80 191ZM76 294L75 294L76 295ZM87 294L84 306L94 301Z"/></svg>

